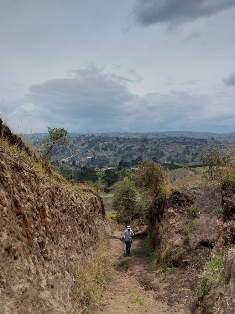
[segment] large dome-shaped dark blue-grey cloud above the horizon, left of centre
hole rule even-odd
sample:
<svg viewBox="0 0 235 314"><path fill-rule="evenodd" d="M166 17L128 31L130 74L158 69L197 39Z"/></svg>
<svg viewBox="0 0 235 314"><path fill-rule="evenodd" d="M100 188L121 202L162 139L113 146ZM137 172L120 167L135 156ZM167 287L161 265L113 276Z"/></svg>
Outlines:
<svg viewBox="0 0 235 314"><path fill-rule="evenodd" d="M80 124L92 131L98 125L112 125L123 115L124 104L136 97L126 84L130 78L105 73L93 65L70 73L71 78L48 80L29 88L26 102L49 108L48 121Z"/></svg>

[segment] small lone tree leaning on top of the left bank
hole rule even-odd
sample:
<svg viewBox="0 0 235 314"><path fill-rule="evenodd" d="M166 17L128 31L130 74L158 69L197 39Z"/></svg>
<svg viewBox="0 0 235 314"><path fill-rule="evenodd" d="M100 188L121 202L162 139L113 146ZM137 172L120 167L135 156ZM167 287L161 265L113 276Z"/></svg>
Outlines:
<svg viewBox="0 0 235 314"><path fill-rule="evenodd" d="M63 127L54 127L53 129L48 127L48 133L49 135L44 139L43 159L46 159L48 156L50 156L54 146L66 146L69 143L67 140L69 138L69 132Z"/></svg>

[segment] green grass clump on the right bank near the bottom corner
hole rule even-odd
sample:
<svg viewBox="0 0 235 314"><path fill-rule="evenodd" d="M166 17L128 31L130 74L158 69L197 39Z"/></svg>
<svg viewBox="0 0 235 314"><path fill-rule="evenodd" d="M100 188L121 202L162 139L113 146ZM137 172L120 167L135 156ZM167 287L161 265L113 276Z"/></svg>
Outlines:
<svg viewBox="0 0 235 314"><path fill-rule="evenodd" d="M218 284L225 284L224 279L224 259L225 255L218 255L207 261L203 270L197 275L199 287L197 290L198 300L216 288Z"/></svg>

